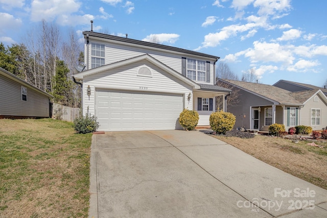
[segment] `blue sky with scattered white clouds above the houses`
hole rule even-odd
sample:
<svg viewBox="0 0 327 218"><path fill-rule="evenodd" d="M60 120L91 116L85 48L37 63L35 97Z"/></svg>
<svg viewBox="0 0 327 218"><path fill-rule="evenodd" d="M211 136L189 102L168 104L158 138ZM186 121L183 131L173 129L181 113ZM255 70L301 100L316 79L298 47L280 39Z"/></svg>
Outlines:
<svg viewBox="0 0 327 218"><path fill-rule="evenodd" d="M327 80L327 1L289 0L0 0L0 41L21 42L42 19L60 28L151 36L165 45L220 57L239 77L259 81Z"/></svg>

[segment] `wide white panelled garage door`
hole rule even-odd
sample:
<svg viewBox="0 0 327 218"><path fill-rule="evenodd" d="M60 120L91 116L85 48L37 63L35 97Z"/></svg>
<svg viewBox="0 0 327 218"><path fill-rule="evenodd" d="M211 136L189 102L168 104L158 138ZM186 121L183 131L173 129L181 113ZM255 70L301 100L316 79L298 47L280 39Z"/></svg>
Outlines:
<svg viewBox="0 0 327 218"><path fill-rule="evenodd" d="M173 130L179 127L182 94L97 89L99 131Z"/></svg>

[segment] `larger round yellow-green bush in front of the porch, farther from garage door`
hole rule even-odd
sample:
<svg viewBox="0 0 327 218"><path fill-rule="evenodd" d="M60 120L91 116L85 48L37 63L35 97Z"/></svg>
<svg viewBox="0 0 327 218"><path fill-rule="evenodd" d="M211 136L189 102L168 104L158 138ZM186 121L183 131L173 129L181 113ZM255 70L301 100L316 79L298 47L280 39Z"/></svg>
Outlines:
<svg viewBox="0 0 327 218"><path fill-rule="evenodd" d="M224 111L213 112L209 117L211 129L217 134L225 134L230 131L234 127L235 121L236 116Z"/></svg>

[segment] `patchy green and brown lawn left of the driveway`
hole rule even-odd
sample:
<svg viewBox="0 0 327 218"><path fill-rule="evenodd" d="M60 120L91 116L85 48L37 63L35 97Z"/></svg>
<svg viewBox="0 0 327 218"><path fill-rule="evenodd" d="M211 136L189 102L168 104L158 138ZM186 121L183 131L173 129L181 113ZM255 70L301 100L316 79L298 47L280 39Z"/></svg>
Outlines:
<svg viewBox="0 0 327 218"><path fill-rule="evenodd" d="M87 217L91 134L54 119L0 119L0 216Z"/></svg>

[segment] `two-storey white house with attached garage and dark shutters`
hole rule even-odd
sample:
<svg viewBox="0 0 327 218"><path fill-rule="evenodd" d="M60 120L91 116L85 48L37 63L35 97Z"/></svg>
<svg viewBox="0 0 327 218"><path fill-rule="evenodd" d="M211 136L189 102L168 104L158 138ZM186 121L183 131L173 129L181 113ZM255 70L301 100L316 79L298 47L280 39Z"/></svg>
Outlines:
<svg viewBox="0 0 327 218"><path fill-rule="evenodd" d="M186 108L209 125L216 96L230 90L215 85L219 57L177 47L92 31L85 38L83 113L98 117L99 131L181 129ZM87 95L89 93L89 96Z"/></svg>

